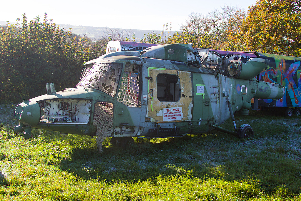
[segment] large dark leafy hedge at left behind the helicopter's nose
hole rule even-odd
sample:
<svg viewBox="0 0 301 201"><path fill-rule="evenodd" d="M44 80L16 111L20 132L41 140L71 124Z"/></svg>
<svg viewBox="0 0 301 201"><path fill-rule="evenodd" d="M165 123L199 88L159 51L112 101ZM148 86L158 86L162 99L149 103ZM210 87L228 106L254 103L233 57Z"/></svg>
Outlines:
<svg viewBox="0 0 301 201"><path fill-rule="evenodd" d="M97 43L72 36L49 21L47 13L42 22L40 16L28 22L25 13L17 21L0 28L1 103L45 94L46 83L53 82L56 90L75 86Z"/></svg>

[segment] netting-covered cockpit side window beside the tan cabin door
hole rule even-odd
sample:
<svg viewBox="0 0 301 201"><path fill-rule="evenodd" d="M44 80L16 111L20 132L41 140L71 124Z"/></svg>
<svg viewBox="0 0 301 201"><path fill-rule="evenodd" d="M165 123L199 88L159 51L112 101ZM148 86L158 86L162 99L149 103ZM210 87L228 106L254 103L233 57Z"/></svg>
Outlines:
<svg viewBox="0 0 301 201"><path fill-rule="evenodd" d="M139 76L141 66L126 63L121 84L117 96L117 101L129 106L137 107L139 104Z"/></svg>

